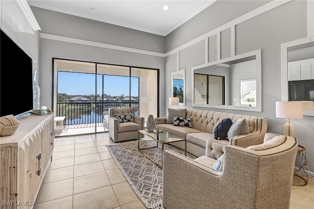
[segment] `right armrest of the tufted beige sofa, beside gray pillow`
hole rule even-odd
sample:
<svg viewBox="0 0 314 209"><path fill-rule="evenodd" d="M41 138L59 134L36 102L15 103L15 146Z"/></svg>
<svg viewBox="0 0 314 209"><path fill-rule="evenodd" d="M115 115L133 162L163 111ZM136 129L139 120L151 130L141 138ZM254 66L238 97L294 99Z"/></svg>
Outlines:
<svg viewBox="0 0 314 209"><path fill-rule="evenodd" d="M255 130L248 134L243 134L240 136L235 136L229 140L229 144L248 147L253 145L262 144L264 142L264 137L267 132L267 118L258 118L255 121Z"/></svg>

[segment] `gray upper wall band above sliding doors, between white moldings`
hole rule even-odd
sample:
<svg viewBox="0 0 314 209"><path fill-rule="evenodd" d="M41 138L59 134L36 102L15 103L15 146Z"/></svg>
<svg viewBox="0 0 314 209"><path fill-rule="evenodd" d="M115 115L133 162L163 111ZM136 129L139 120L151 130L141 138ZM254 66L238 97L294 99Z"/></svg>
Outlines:
<svg viewBox="0 0 314 209"><path fill-rule="evenodd" d="M164 37L31 6L41 33L164 52Z"/></svg>

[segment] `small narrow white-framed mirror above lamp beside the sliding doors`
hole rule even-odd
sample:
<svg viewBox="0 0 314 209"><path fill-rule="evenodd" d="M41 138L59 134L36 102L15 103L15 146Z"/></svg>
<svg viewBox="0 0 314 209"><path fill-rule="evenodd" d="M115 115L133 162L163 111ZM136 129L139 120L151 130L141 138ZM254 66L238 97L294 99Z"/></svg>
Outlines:
<svg viewBox="0 0 314 209"><path fill-rule="evenodd" d="M185 105L185 69L171 73L172 97L179 97L179 105Z"/></svg>

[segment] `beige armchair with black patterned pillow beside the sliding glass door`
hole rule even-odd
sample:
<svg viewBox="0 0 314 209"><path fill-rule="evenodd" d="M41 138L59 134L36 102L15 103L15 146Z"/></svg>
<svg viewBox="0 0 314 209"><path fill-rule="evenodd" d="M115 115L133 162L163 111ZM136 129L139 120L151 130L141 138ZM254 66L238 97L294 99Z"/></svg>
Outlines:
<svg viewBox="0 0 314 209"><path fill-rule="evenodd" d="M133 122L123 121L115 116L132 114ZM120 117L121 118L121 117ZM109 136L114 142L143 138L138 130L144 129L144 117L135 115L135 108L110 108L109 109Z"/></svg>

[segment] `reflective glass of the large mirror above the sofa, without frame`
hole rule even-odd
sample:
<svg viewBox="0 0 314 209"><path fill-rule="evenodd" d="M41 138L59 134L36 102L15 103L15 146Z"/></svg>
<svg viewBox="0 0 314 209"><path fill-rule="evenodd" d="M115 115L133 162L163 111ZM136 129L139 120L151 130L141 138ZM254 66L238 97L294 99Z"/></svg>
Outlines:
<svg viewBox="0 0 314 209"><path fill-rule="evenodd" d="M194 104L257 107L256 55L194 70Z"/></svg>

